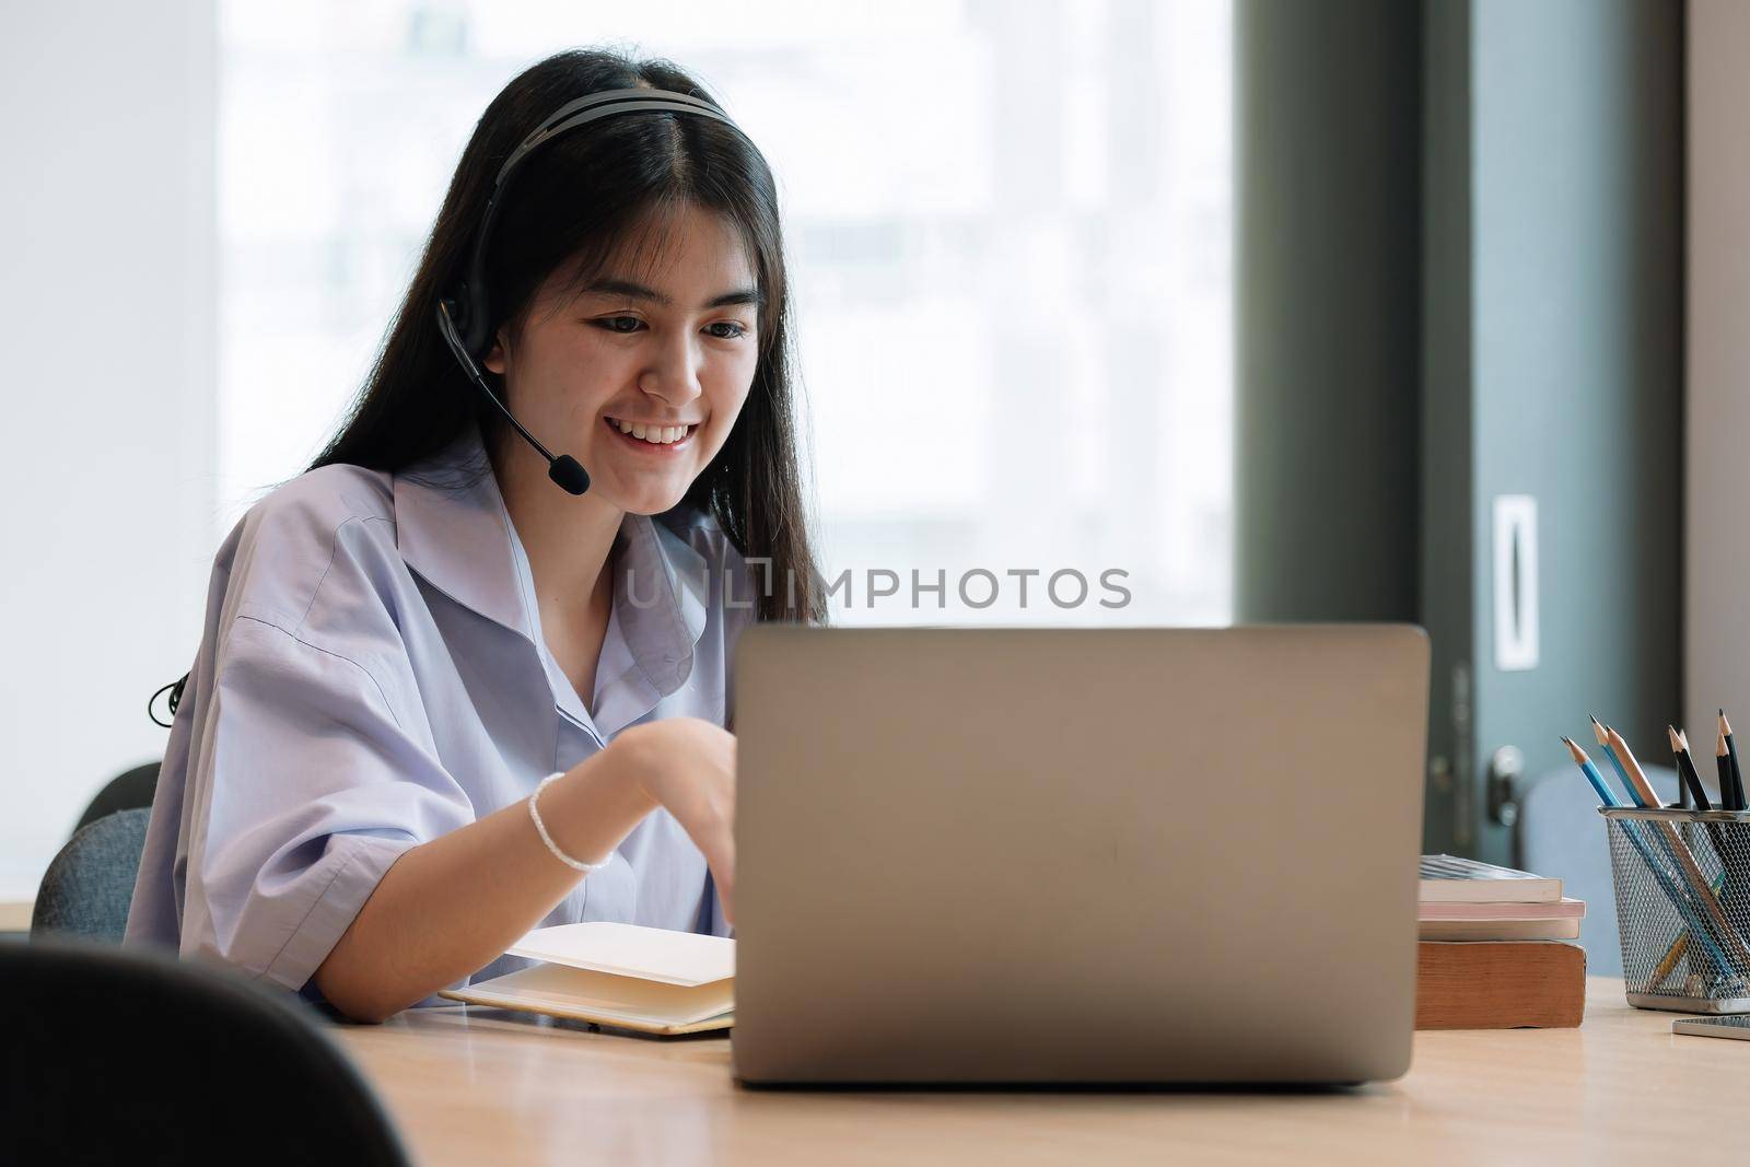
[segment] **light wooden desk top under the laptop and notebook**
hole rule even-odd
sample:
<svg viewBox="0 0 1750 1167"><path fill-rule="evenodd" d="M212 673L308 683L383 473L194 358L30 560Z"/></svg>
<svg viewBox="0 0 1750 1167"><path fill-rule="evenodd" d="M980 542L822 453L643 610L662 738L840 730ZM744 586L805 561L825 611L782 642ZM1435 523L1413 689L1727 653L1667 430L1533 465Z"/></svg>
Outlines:
<svg viewBox="0 0 1750 1167"><path fill-rule="evenodd" d="M1587 985L1580 1029L1416 1034L1409 1076L1328 1094L772 1092L724 1038L646 1041L446 1008L341 1041L420 1164L1659 1164L1750 1092L1750 1043Z"/></svg>

